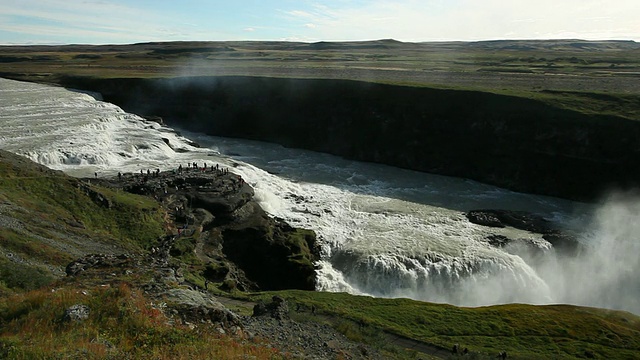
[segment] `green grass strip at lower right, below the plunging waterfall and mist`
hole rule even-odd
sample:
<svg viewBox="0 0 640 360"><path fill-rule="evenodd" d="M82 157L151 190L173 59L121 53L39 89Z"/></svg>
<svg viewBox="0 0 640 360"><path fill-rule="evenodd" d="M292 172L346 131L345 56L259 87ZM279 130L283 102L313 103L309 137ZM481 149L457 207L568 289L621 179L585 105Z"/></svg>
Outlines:
<svg viewBox="0 0 640 360"><path fill-rule="evenodd" d="M640 318L621 311L523 304L461 308L303 291L267 293L254 299L267 300L274 294L287 298L290 304L313 305L319 314L364 323L445 349L458 343L477 353L506 350L510 358L517 359L573 359L585 353L608 359L640 356Z"/></svg>

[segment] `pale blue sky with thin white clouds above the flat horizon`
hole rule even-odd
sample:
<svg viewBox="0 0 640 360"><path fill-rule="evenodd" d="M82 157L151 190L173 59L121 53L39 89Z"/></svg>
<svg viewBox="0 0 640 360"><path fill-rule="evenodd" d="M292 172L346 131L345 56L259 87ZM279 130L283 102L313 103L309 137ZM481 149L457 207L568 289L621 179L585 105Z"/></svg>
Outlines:
<svg viewBox="0 0 640 360"><path fill-rule="evenodd" d="M640 0L0 0L0 44L640 41Z"/></svg>

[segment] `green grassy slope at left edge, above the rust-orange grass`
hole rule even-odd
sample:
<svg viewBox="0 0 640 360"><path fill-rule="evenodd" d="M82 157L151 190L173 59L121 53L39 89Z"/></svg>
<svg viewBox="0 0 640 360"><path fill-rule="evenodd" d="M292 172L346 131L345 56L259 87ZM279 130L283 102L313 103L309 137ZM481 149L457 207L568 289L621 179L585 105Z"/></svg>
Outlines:
<svg viewBox="0 0 640 360"><path fill-rule="evenodd" d="M31 289L53 279L52 267L93 252L138 252L163 235L163 212L152 199L91 185L0 153L0 289ZM102 194L107 208L87 189ZM19 271L18 271L19 270Z"/></svg>

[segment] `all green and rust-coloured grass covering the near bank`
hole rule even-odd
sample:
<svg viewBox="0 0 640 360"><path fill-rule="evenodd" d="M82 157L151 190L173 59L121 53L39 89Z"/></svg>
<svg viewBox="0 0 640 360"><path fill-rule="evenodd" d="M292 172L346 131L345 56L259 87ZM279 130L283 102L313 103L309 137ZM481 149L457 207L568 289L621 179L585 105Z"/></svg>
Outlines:
<svg viewBox="0 0 640 360"><path fill-rule="evenodd" d="M163 210L153 199L86 184L6 152L0 152L0 170L0 358L299 356L283 350L289 345L278 342L277 321L261 325L275 326L270 330L273 338L248 336L243 326L221 332L222 325L193 317L204 313L184 310L167 298L175 291L218 299L233 295L241 299L234 307L240 316L250 314L255 301L276 295L288 302L291 324L330 326L313 328L337 330L352 342L376 349L341 350L329 358L448 358L448 349L456 343L479 359L495 358L500 351L513 359L640 356L640 318L620 311L519 304L459 308L292 290L230 294L211 286L204 291L203 284L193 292L195 285L176 280L177 274L184 270L192 281L202 278L188 275L190 264L182 263L181 257L170 260L169 268L183 269L174 270L175 277L162 275L169 268L153 265L156 260L143 260L148 245L164 233ZM61 276L60 268L89 252L130 255L116 257L123 259L120 265ZM91 309L84 321L65 315L77 304ZM398 338L413 350L389 345Z"/></svg>

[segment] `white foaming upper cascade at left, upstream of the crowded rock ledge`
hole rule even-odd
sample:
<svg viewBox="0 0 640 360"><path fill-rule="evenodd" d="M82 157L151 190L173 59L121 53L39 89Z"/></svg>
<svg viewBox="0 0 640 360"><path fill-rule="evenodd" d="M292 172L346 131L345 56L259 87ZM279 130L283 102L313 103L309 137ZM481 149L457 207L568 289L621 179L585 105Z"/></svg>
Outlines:
<svg viewBox="0 0 640 360"><path fill-rule="evenodd" d="M96 95L5 79L0 84L0 145L51 168L84 176L166 169L181 160L176 149L197 150L171 129Z"/></svg>

